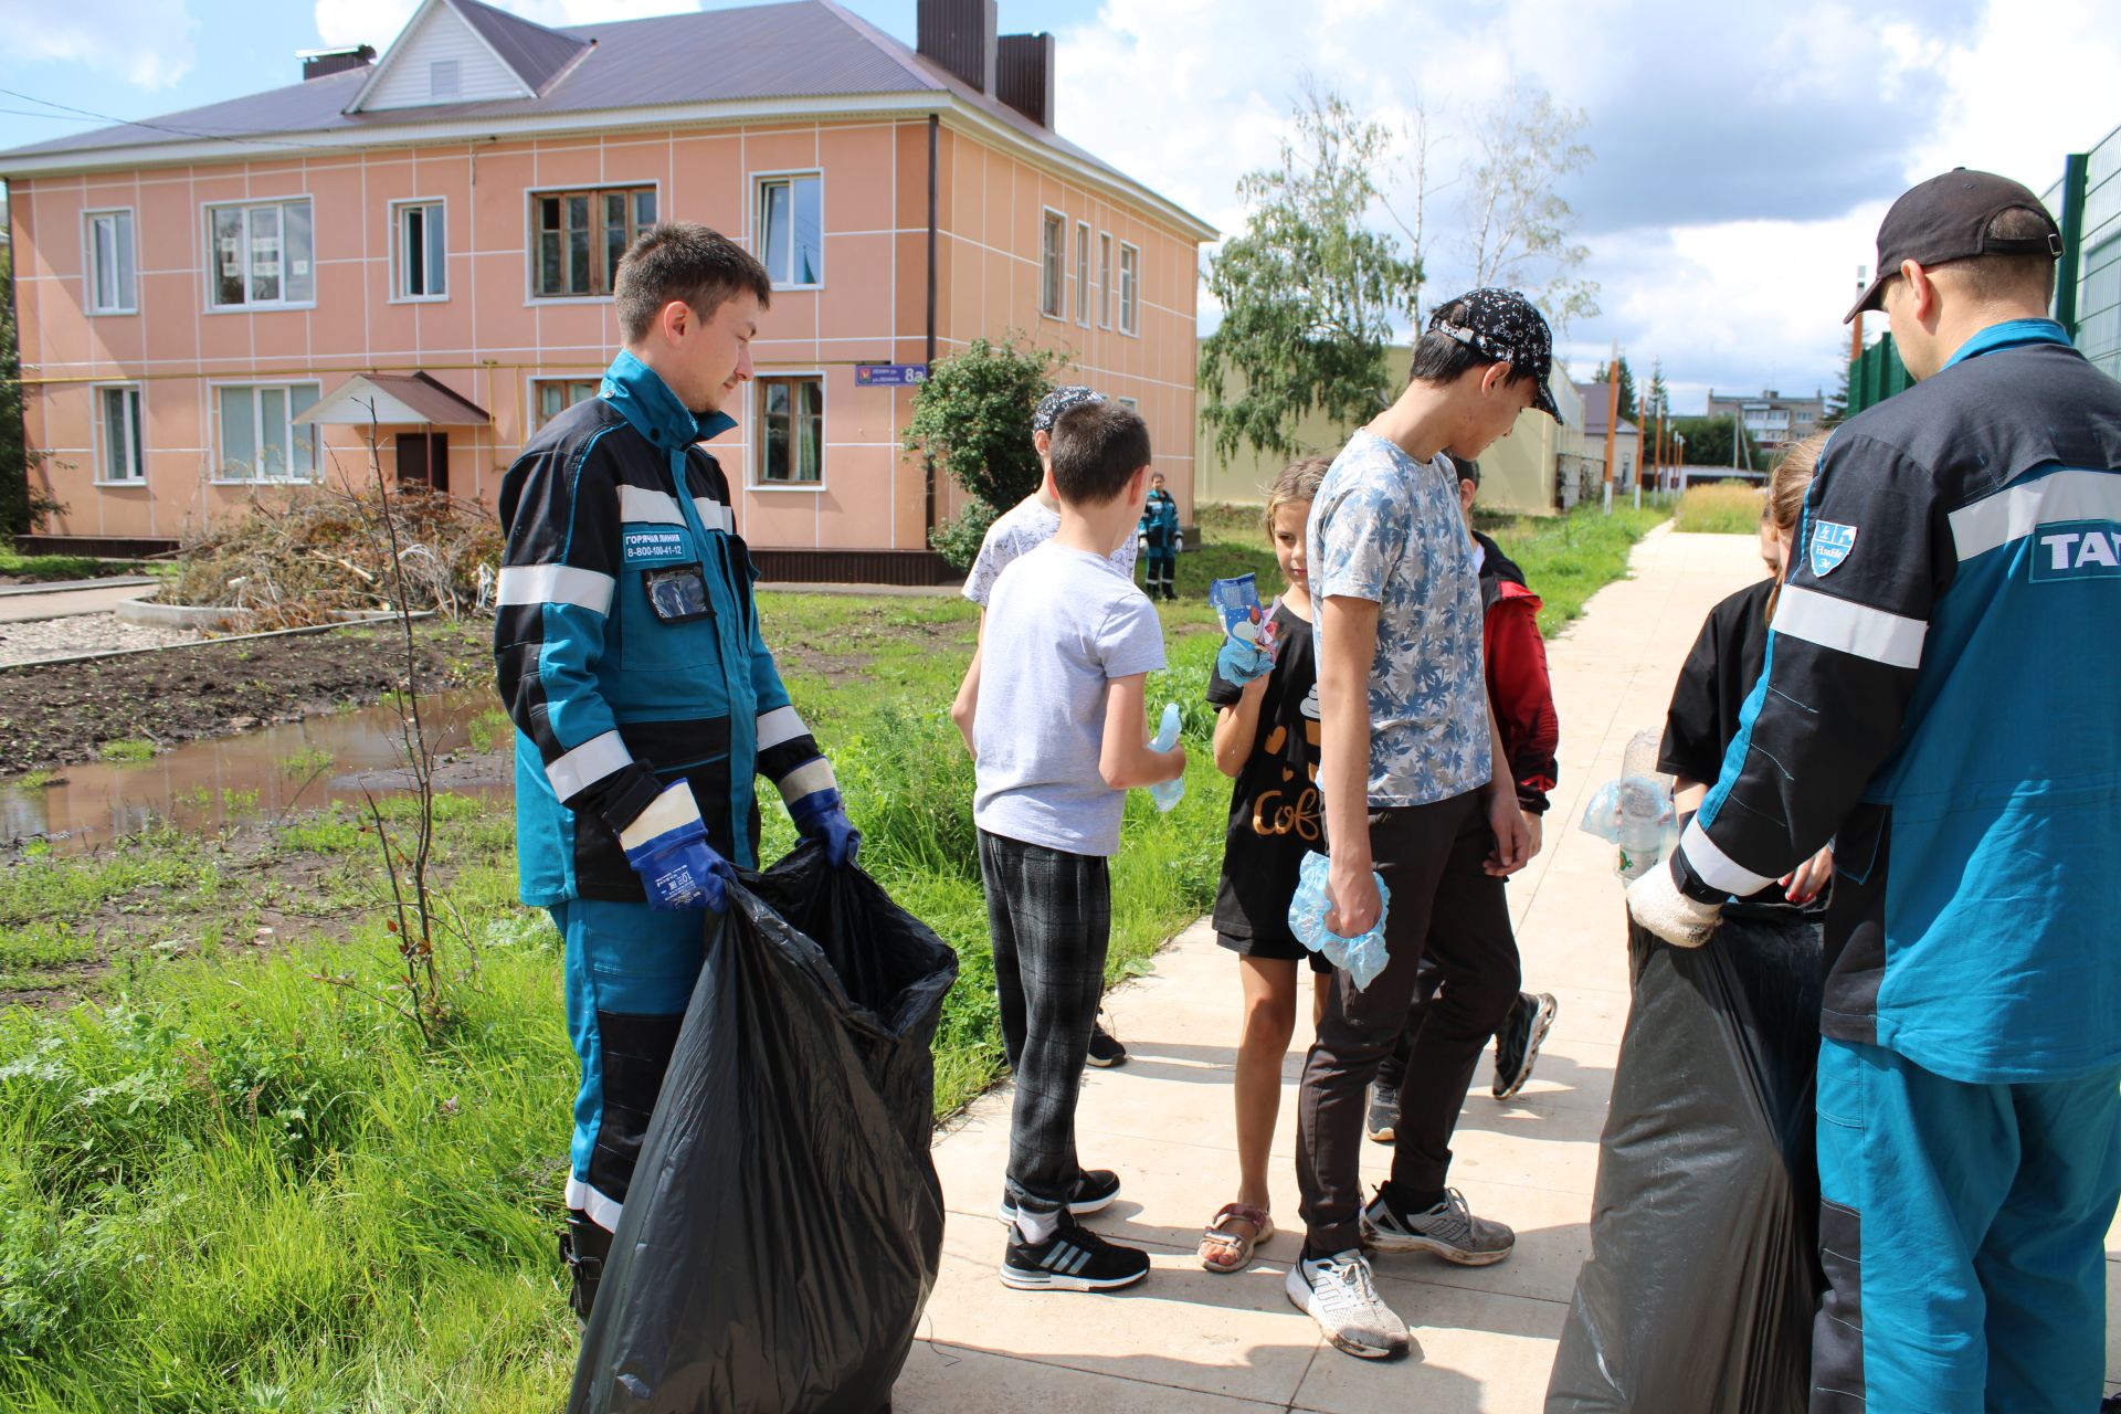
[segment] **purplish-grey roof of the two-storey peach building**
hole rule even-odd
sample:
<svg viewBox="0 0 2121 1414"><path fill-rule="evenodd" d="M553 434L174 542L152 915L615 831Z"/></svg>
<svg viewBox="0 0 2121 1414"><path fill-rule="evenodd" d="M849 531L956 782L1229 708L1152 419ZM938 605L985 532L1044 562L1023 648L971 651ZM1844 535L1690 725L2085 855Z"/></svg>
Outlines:
<svg viewBox="0 0 2121 1414"><path fill-rule="evenodd" d="M1198 216L995 95L980 93L834 0L785 0L554 30L479 0L443 2L473 25L528 87L541 91L532 98L348 112L375 74L371 68L356 68L11 148L0 153L0 178L371 144L507 138L513 131L734 121L751 117L747 108L774 117L895 108L954 110L1046 148L1092 180L1145 197L1196 240L1217 235ZM382 64L388 61L386 53ZM543 83L532 83L539 74Z"/></svg>

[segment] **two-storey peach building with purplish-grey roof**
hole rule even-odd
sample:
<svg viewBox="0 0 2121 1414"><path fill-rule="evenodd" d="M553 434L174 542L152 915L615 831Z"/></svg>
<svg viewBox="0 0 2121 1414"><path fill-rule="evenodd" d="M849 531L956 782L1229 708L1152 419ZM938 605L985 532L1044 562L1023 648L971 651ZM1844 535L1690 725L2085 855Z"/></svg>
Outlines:
<svg viewBox="0 0 2121 1414"><path fill-rule="evenodd" d="M176 541L386 475L492 507L619 343L647 225L757 254L757 377L713 452L770 575L931 579L954 488L899 449L931 360L1012 331L1135 403L1190 513L1215 231L1054 131L1054 40L918 0L545 28L424 0L380 59L0 153L28 437L55 538ZM269 498L265 498L269 500Z"/></svg>

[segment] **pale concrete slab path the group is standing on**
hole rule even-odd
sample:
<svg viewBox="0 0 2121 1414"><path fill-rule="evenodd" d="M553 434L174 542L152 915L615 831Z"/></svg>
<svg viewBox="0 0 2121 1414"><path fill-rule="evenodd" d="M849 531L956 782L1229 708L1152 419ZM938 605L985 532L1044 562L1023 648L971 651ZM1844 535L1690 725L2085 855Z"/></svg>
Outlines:
<svg viewBox="0 0 2121 1414"><path fill-rule="evenodd" d="M1453 1183L1476 1213L1517 1227L1517 1255L1466 1270L1381 1257L1379 1283L1413 1327L1410 1361L1357 1361L1326 1346L1281 1280L1302 1236L1281 1232L1251 1270L1213 1276L1194 1259L1200 1225L1237 1196L1230 1066L1239 984L1205 922L1156 958L1154 975L1107 998L1130 1051L1088 1075L1077 1119L1086 1164L1116 1168L1122 1198L1090 1219L1145 1247L1154 1272L1118 1295L1016 1293L995 1274L995 1219L1012 1092L984 1096L937 1138L948 1227L944 1268L899 1378L899 1414L1211 1414L1468 1410L1536 1414L1576 1272L1589 1251L1591 1187L1606 1096L1627 1020L1627 950L1612 846L1576 831L1589 793L1618 774L1629 738L1661 727L1703 615L1760 575L1752 536L1657 530L1631 577L1591 600L1555 640L1561 786L1542 854L1510 886L1529 988L1561 1015L1531 1083L1489 1098L1483 1062L1453 1145ZM1311 1043L1298 1022L1275 1153L1275 1217L1296 1227L1294 1081ZM1366 1181L1389 1168L1366 1145ZM2108 1240L2121 1310L2121 1227ZM2108 1344L2108 1380L2121 1350ZM2091 1414L2089 1410L2085 1414Z"/></svg>

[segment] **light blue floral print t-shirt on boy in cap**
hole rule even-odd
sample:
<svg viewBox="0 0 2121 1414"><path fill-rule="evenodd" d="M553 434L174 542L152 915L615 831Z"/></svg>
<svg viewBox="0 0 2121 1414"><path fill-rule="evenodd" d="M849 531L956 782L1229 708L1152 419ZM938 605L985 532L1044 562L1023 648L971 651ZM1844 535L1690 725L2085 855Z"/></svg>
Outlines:
<svg viewBox="0 0 2121 1414"><path fill-rule="evenodd" d="M1304 538L1313 611L1336 596L1377 604L1370 806L1427 806L1485 786L1495 761L1480 581L1451 458L1423 464L1355 432L1311 502Z"/></svg>

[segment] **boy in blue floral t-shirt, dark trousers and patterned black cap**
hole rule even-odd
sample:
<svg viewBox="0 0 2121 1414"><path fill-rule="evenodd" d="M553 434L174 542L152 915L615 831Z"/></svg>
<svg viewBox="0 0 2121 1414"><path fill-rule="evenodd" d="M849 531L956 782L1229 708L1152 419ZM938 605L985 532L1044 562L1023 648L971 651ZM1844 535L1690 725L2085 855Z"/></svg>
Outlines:
<svg viewBox="0 0 2121 1414"><path fill-rule="evenodd" d="M1334 975L1304 1062L1304 1251L1287 1293L1334 1346L1368 1359L1404 1355L1406 1323L1379 1297L1364 1247L1487 1266L1517 1244L1444 1187L1466 1085L1517 1003L1502 880L1529 852L1487 704L1480 583L1449 454L1480 456L1529 407L1559 422L1550 371L1553 335L1521 295L1474 290L1436 310L1413 379L1334 458L1304 536L1326 922L1355 937L1383 914L1389 960L1364 988ZM1364 1204L1364 1092L1406 1028L1423 954L1442 986L1413 1039L1391 1181Z"/></svg>

